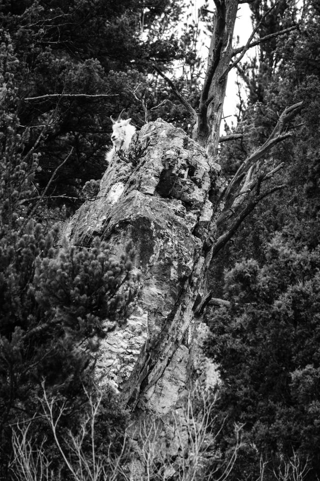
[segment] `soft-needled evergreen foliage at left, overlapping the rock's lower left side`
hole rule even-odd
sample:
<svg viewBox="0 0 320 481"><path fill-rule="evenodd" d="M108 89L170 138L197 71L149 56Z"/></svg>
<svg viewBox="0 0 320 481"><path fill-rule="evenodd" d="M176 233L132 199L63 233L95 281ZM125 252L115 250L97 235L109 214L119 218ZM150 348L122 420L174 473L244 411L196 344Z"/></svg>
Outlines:
<svg viewBox="0 0 320 481"><path fill-rule="evenodd" d="M34 146L25 148L26 134L19 132L13 73L19 64L10 44L1 45L0 62L0 472L8 479L12 427L33 418L30 432L46 432L43 381L66 406L61 429L76 424L83 387L95 389L99 340L125 322L137 285L131 244L119 259L99 239L90 250L66 240L61 247L57 225L47 229L34 221L35 209L44 209L35 182L39 156ZM125 419L109 393L102 404L108 398L101 432L109 432L112 419L119 425Z"/></svg>

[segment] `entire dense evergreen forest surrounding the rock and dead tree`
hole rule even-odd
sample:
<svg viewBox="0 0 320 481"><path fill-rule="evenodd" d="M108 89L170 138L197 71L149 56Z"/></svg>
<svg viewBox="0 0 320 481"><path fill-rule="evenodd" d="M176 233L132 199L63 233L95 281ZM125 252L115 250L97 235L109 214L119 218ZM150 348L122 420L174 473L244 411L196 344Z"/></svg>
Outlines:
<svg viewBox="0 0 320 481"><path fill-rule="evenodd" d="M258 37L296 29L268 37L237 66L247 98L238 99L236 125L225 126L242 137L220 144L226 179L286 106L302 100L303 108L292 135L264 159L265 166L283 163L270 180L283 188L257 205L212 262L210 288L229 304L205 315L205 352L221 379L210 410L214 455L198 474L214 472L210 479L320 476L320 6L254 0L253 25L271 5ZM92 196L105 170L109 115L124 109L138 128L162 117L191 131L188 111L159 74L197 108L204 66L198 26L184 23L186 7L183 0L0 5L1 479L75 478L61 451L76 452L56 442L50 419L59 417L60 439L76 436L94 403L93 444L106 473L122 452L129 413L111 392L99 397L91 373L99 338L125 322L138 290L134 249L125 246L117 262L98 240L76 249L56 222ZM211 6L204 7L209 28ZM18 462L26 433L24 445L42 453L33 478ZM81 446L91 453L89 439ZM229 457L232 470L225 470Z"/></svg>

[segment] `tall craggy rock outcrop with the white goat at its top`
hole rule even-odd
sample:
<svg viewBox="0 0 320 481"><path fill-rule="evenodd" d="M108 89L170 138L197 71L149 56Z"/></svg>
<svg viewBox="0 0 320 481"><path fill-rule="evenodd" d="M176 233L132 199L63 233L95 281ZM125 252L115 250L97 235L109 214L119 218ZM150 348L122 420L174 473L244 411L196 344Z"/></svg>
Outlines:
<svg viewBox="0 0 320 481"><path fill-rule="evenodd" d="M124 329L101 346L99 374L134 408L165 415L187 379L205 289L203 245L212 228L219 166L181 130L146 124L127 154L115 154L93 201L71 219L75 245L94 236L115 254L132 239L141 291Z"/></svg>

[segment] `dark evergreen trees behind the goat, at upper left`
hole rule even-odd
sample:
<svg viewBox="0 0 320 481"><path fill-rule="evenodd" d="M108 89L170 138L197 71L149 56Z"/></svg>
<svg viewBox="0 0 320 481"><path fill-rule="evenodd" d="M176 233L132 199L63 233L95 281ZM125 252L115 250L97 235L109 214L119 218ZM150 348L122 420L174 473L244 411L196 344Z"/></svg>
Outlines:
<svg viewBox="0 0 320 481"><path fill-rule="evenodd" d="M149 110L161 104L158 112L150 110L149 120L166 115L186 123L164 81L146 78L154 74L153 63L165 71L172 60L187 56L190 69L196 65L192 35L179 39L174 33L182 14L182 0L145 6L139 0L2 3L1 48L4 57L15 57L14 66L3 62L2 71L13 74L24 151L37 144L41 152L40 191L70 154L48 189L51 206L65 203L72 212L84 183L101 178L110 114L125 109L141 126L145 95ZM186 75L177 86L194 92L195 76L188 83Z"/></svg>

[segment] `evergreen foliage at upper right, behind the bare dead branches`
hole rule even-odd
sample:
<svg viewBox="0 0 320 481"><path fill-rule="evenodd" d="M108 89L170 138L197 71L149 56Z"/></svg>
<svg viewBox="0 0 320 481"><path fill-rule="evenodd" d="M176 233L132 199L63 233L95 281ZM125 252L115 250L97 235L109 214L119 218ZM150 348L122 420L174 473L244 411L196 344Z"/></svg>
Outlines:
<svg viewBox="0 0 320 481"><path fill-rule="evenodd" d="M261 18L264 7L252 3L254 24ZM248 98L246 103L243 99L239 103L239 122L234 127L235 132L243 134L243 139L221 144L220 161L227 178L266 140L284 107L300 100L304 104L296 119L299 127L289 139L273 147L263 161L265 167L284 163L269 185L287 187L262 200L241 224L232 244L225 246L223 254L214 260L212 272L218 274L212 278L212 287L217 296L223 291L223 270L243 257L264 262L266 245L275 232L284 230L285 235L299 236L303 232L299 224L303 223L309 234L309 238L305 235L305 242L308 246L317 245L320 85L313 61L302 59L318 57L315 47L320 45L318 15L316 2L306 2L302 10L297 10L293 2L276 4L262 23L259 35L272 34L294 23L299 30L261 43L258 58L253 57L251 63L247 61L239 70ZM299 233L295 234L297 230Z"/></svg>

